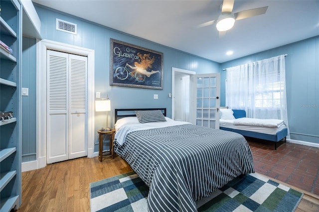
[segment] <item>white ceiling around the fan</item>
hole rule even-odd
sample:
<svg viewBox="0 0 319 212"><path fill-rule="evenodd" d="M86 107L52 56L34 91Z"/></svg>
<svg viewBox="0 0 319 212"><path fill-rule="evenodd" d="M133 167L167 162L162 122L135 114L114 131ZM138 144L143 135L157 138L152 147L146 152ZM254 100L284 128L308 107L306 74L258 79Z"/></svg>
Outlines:
<svg viewBox="0 0 319 212"><path fill-rule="evenodd" d="M319 35L319 0L235 0L233 12L269 6L219 37L222 0L32 0L219 63ZM233 55L226 52L232 50Z"/></svg>

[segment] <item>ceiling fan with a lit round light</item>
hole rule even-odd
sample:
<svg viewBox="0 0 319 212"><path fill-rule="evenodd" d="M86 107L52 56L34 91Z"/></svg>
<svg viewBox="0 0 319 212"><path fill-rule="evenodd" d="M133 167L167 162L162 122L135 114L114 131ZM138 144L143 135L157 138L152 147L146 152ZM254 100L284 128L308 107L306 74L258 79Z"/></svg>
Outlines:
<svg viewBox="0 0 319 212"><path fill-rule="evenodd" d="M218 19L199 24L197 27L208 26L213 24L215 21L217 21L216 22L217 30L220 32L225 32L234 26L235 20L245 19L245 18L256 16L256 15L262 15L262 14L265 14L268 9L268 6L264 6L264 7L247 9L247 10L233 13L232 12L233 7L234 7L234 0L224 0L219 7L221 8L221 14L218 16Z"/></svg>

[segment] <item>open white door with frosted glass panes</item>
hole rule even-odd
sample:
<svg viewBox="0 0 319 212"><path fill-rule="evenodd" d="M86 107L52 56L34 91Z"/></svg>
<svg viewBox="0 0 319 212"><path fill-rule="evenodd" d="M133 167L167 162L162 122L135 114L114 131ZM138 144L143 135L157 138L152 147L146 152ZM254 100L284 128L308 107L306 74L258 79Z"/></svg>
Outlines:
<svg viewBox="0 0 319 212"><path fill-rule="evenodd" d="M193 80L193 124L219 129L220 74L200 74Z"/></svg>

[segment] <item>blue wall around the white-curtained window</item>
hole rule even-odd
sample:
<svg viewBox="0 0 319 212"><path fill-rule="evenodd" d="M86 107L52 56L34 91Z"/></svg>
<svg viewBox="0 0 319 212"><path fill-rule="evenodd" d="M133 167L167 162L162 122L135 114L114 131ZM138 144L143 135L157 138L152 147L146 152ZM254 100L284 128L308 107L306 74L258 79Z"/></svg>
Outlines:
<svg viewBox="0 0 319 212"><path fill-rule="evenodd" d="M287 54L286 89L291 139L319 143L319 36L221 64L221 69ZM226 71L221 71L225 106Z"/></svg>

